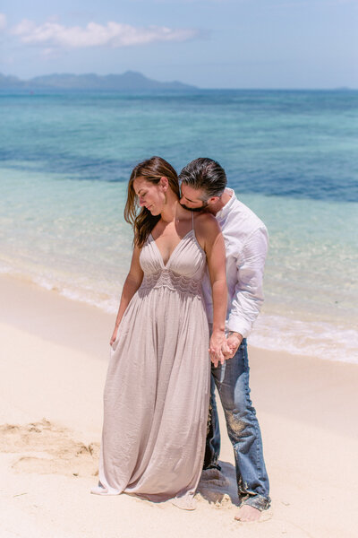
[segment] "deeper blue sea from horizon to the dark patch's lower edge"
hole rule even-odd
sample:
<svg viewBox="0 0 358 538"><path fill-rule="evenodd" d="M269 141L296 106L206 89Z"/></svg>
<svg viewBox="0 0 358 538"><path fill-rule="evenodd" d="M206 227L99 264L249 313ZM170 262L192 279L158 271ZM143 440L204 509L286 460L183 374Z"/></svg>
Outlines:
<svg viewBox="0 0 358 538"><path fill-rule="evenodd" d="M209 156L244 193L358 201L358 91L0 94L0 160L126 181ZM9 163L10 164L10 163Z"/></svg>

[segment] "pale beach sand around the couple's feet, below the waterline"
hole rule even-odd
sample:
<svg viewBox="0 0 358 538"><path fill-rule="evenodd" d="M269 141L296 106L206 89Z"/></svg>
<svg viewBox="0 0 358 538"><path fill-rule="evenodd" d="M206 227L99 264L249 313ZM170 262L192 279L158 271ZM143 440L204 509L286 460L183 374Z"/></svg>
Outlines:
<svg viewBox="0 0 358 538"><path fill-rule="evenodd" d="M272 507L234 521L234 458L221 414L223 473L197 509L97 483L102 393L115 316L30 282L0 278L1 538L355 537L358 366L250 349Z"/></svg>

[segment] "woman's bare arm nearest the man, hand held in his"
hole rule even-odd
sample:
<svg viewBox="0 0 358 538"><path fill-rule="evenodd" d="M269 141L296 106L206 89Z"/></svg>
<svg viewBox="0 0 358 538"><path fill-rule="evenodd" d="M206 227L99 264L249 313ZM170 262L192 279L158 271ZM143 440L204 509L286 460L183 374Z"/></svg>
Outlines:
<svg viewBox="0 0 358 538"><path fill-rule="evenodd" d="M226 350L225 320L227 308L226 253L223 235L217 220L209 213L198 217L198 235L204 239L207 255L211 292L213 299L213 329L209 351L214 366L224 363L223 350Z"/></svg>

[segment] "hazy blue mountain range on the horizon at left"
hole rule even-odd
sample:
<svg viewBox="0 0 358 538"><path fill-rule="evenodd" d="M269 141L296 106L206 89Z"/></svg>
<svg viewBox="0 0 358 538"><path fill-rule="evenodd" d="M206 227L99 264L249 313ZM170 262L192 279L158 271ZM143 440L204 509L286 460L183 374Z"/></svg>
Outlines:
<svg viewBox="0 0 358 538"><path fill-rule="evenodd" d="M0 74L0 90L103 90L103 91L161 91L195 90L195 86L183 82L158 82L141 73L127 71L124 74L48 74L21 81L15 76Z"/></svg>

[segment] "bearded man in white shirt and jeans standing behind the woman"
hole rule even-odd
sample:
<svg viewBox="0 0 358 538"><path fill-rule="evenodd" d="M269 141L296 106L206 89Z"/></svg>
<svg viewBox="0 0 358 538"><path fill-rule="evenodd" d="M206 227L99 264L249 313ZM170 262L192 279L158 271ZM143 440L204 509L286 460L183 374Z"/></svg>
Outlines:
<svg viewBox="0 0 358 538"><path fill-rule="evenodd" d="M268 231L234 191L226 188L225 170L211 159L196 159L183 168L180 203L192 211L208 211L216 216L226 244L228 304L227 345L224 365L212 368L211 421L204 468L217 468L220 450L214 390L220 396L226 427L234 447L236 478L242 504L235 519L256 521L269 507L268 474L263 458L259 422L252 407L246 336L259 315L263 302L262 278L268 251ZM212 299L209 275L203 282L209 323ZM223 350L224 351L224 350Z"/></svg>

